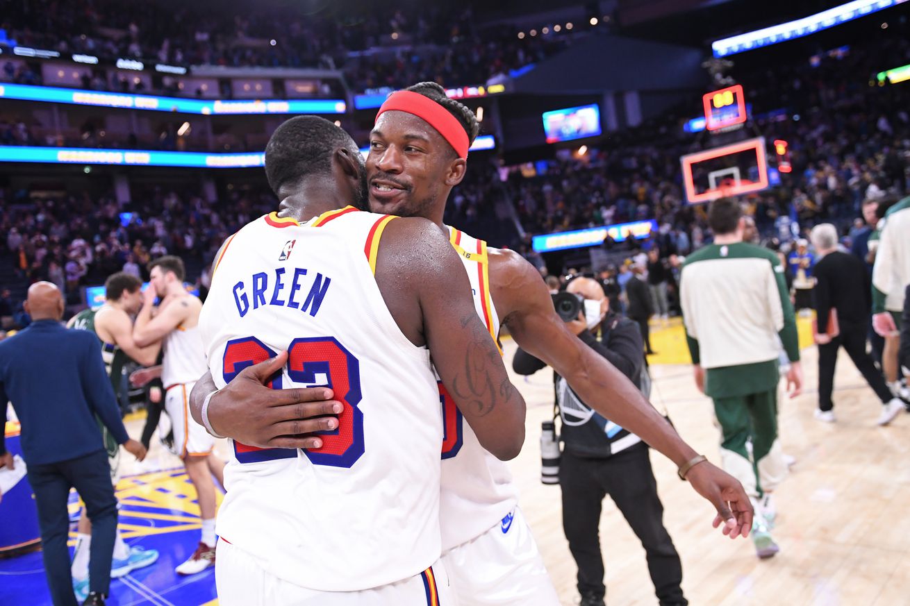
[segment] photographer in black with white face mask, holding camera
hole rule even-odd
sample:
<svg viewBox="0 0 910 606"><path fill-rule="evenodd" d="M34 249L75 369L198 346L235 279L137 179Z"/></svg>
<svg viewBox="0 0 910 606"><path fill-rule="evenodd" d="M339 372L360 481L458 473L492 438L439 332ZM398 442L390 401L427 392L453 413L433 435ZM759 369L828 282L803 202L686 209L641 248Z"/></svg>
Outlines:
<svg viewBox="0 0 910 606"><path fill-rule="evenodd" d="M564 292L553 295L553 304L571 331L585 344L636 385L642 386L642 379L645 384L650 383L644 367L638 324L609 312L608 299L600 284L590 278L575 278ZM595 336L597 331L601 332L600 340ZM544 366L540 359L521 349L512 361L512 368L521 375L533 374ZM558 472L562 487L562 528L578 565L581 606L602 606L604 603L606 588L598 527L602 501L608 494L642 541L661 606L687 604L680 587L682 563L663 527L663 505L657 496L647 445L635 434L586 406L565 379L557 376L555 380L562 429L560 439L564 443ZM541 446L545 466L552 468L559 455L558 443L555 443L552 424L544 425ZM550 440L553 443L548 454L546 446ZM546 483L556 483L555 480L547 481L546 475L543 479Z"/></svg>

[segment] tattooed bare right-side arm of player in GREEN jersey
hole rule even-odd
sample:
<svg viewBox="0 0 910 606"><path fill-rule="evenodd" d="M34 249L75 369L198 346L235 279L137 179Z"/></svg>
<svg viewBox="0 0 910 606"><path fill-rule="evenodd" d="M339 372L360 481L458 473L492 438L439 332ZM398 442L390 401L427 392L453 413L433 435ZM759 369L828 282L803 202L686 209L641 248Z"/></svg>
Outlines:
<svg viewBox="0 0 910 606"><path fill-rule="evenodd" d="M524 442L524 399L470 295L458 253L426 219L391 221L379 243L376 281L392 317L433 365L481 445L501 460ZM420 320L422 323L415 322Z"/></svg>

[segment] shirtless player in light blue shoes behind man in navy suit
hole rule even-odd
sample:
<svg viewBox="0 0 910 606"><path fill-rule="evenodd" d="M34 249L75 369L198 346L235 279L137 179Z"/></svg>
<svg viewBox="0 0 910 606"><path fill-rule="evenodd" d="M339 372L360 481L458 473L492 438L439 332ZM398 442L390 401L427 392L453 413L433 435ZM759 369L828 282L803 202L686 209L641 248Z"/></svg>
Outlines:
<svg viewBox="0 0 910 606"><path fill-rule="evenodd" d="M123 386L123 367L127 359L134 359L139 364L151 366L157 359L159 346L147 348L136 346L133 340L133 320L142 305L142 282L139 278L119 272L107 278L105 282L105 304L97 309L86 309L70 319L68 328L78 328L94 332L101 341L101 357L104 359L107 375L111 379L114 393L118 395ZM111 465L111 481L116 487L119 479L120 448L106 427L98 420L105 440L107 457ZM79 519L76 534L76 554L73 558L73 588L76 599L83 601L88 592L88 554L91 542L91 521L83 512ZM129 547L117 530L114 544L114 562L111 577L116 579L143 568L157 561L156 550L143 550L141 547Z"/></svg>

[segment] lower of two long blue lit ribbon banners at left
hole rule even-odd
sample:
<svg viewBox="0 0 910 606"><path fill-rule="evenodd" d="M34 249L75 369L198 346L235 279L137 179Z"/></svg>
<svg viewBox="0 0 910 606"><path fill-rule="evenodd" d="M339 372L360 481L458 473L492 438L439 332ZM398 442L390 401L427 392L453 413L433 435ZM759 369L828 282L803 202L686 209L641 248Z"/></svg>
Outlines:
<svg viewBox="0 0 910 606"><path fill-rule="evenodd" d="M47 164L109 164L135 167L246 168L266 166L266 156L206 154L143 149L86 149L81 147L0 146L0 162Z"/></svg>

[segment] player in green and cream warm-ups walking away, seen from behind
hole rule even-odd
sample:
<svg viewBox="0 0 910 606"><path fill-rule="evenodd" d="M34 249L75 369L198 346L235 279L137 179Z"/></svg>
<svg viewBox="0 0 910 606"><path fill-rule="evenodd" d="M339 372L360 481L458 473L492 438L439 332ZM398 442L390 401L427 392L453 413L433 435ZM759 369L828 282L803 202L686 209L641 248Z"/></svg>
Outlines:
<svg viewBox="0 0 910 606"><path fill-rule="evenodd" d="M695 382L713 399L723 432L723 469L743 483L762 514L753 519L752 537L758 556L769 558L779 550L770 533L771 493L787 472L777 439L778 338L790 359L791 397L803 382L794 308L777 255L743 242L739 203L716 200L708 221L713 244L682 267L682 316Z"/></svg>

